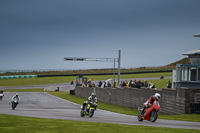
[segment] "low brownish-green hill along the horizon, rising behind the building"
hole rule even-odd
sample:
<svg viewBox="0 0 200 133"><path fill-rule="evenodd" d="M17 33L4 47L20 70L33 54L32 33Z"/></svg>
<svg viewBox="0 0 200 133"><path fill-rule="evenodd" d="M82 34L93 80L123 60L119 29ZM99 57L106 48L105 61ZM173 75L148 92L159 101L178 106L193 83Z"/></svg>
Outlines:
<svg viewBox="0 0 200 133"><path fill-rule="evenodd" d="M183 58L166 66L159 67L138 67L138 68L121 68L122 73L130 73L130 72L145 72L145 71L166 71L172 70L176 68L176 64L191 64L189 58ZM117 68L115 70L117 73ZM7 75L67 75L67 74L101 74L101 73L112 73L113 68L105 68L105 69L87 69L87 70L49 70L49 71L8 71L0 73L0 76Z"/></svg>

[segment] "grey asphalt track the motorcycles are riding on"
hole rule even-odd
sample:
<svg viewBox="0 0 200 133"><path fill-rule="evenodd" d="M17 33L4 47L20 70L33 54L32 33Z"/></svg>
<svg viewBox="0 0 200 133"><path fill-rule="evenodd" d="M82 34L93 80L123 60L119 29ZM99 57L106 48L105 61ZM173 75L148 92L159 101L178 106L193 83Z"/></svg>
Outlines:
<svg viewBox="0 0 200 133"><path fill-rule="evenodd" d="M127 125L200 129L200 122L162 119L158 119L156 122L139 122L136 116L124 115L99 109L95 111L92 118L88 116L81 117L80 105L49 95L45 92L20 92L21 101L17 108L12 110L11 98L14 94L15 92L5 92L3 100L0 101L0 114Z"/></svg>

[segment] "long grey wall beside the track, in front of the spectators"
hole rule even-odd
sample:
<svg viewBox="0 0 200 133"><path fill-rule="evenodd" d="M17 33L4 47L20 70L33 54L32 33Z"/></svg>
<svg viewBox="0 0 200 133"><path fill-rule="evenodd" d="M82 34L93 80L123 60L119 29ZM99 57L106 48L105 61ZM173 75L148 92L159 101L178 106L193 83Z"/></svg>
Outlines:
<svg viewBox="0 0 200 133"><path fill-rule="evenodd" d="M195 93L200 93L200 89L166 89L152 90L148 88L99 88L96 87L98 101L115 104L124 107L142 107L155 93L161 94L161 113L164 114L188 114L191 112L191 103L194 102ZM76 87L75 95L88 98L94 91L92 87Z"/></svg>

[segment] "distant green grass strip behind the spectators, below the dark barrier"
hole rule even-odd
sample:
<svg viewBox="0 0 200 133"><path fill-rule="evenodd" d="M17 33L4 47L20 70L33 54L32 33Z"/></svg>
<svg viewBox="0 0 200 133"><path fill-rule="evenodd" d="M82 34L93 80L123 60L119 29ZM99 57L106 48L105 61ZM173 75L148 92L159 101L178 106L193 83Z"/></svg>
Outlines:
<svg viewBox="0 0 200 133"><path fill-rule="evenodd" d="M123 79L127 79L127 78L160 77L161 75L163 75L164 77L168 77L168 76L172 76L172 73L171 72L164 72L164 73L126 74L126 75L121 75L120 78L121 78L121 80L123 80ZM75 78L76 78L76 76L22 78L22 79L1 79L0 80L0 86L25 86L25 85L69 83L70 81L75 80ZM87 78L91 79L93 81L95 81L95 80L106 80L106 79L113 78L113 75L87 76ZM117 76L115 78L117 78ZM160 80L160 81L162 82L162 80ZM157 87L157 85L156 85L156 87ZM166 87L166 83L165 83L164 87ZM159 87L157 87L157 88L159 88Z"/></svg>

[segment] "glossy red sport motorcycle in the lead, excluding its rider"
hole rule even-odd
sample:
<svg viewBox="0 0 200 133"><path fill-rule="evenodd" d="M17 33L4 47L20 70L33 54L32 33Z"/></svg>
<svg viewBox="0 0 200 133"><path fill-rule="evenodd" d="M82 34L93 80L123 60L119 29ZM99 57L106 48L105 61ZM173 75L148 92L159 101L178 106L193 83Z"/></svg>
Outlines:
<svg viewBox="0 0 200 133"><path fill-rule="evenodd" d="M158 101L154 101L153 104L145 110L145 113L142 114L142 109L138 108L138 121L151 121L155 122L158 118L158 111L160 110L160 104Z"/></svg>

